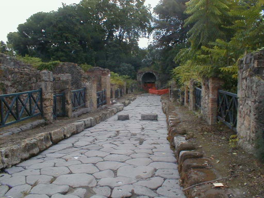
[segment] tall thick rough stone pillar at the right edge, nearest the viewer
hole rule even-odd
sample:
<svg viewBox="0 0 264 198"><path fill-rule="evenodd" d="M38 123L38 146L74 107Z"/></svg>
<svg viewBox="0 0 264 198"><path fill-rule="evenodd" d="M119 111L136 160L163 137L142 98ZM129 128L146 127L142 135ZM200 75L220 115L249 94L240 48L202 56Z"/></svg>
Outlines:
<svg viewBox="0 0 264 198"><path fill-rule="evenodd" d="M264 50L246 55L238 68L238 143L253 152L256 135L264 135Z"/></svg>

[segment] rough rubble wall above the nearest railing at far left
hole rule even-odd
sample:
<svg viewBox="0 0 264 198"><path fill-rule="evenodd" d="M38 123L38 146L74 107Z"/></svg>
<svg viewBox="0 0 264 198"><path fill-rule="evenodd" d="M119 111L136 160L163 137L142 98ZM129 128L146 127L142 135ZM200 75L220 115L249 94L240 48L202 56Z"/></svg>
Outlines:
<svg viewBox="0 0 264 198"><path fill-rule="evenodd" d="M0 53L0 95L39 89L40 71Z"/></svg>

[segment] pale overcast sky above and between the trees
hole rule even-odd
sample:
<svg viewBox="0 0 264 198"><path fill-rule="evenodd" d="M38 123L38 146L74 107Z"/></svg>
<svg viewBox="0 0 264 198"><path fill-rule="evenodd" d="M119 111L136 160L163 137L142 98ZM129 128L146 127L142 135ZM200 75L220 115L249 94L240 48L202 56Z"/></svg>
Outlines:
<svg viewBox="0 0 264 198"><path fill-rule="evenodd" d="M9 32L17 31L17 26L25 23L26 19L37 12L56 11L62 7L62 2L68 4L79 3L80 0L0 0L0 41L7 41ZM146 0L145 4L155 7L159 0ZM148 46L148 39L139 41L141 48Z"/></svg>

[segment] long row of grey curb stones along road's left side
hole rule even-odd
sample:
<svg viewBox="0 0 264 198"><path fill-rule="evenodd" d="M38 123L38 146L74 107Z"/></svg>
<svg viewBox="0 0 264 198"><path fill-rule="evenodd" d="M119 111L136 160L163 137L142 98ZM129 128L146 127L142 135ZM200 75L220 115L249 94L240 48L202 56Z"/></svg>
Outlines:
<svg viewBox="0 0 264 198"><path fill-rule="evenodd" d="M25 161L26 159L37 155L59 141L67 139L74 134L80 133L86 128L95 126L96 124L110 118L123 109L123 104L111 105L109 110L102 112L100 115L95 117L88 117L83 120L78 120L72 124L68 124L63 128L38 134L35 137L23 140L20 145L1 148L0 169L10 168L17 163Z"/></svg>

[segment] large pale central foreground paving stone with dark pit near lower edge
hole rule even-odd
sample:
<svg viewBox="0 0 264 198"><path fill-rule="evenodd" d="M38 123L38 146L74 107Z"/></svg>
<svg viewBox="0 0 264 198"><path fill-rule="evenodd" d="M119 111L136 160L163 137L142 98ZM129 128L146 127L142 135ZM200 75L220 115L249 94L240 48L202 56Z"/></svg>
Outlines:
<svg viewBox="0 0 264 198"><path fill-rule="evenodd" d="M122 166L117 170L117 176L131 177L133 179L147 179L155 172L154 167L149 166Z"/></svg>

